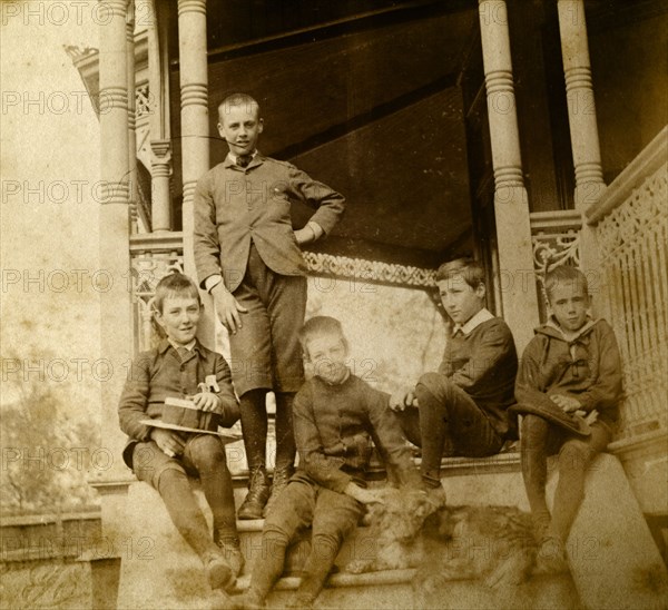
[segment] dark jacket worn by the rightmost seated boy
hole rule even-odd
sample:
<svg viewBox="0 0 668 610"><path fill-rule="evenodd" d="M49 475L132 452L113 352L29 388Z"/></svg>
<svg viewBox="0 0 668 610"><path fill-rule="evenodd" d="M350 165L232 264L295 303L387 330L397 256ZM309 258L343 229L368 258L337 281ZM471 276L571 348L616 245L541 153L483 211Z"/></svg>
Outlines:
<svg viewBox="0 0 668 610"><path fill-rule="evenodd" d="M619 348L605 319L590 319L568 341L553 322L536 328L520 363L518 403L537 404L549 394L573 396L582 411L598 411L598 420L613 430L621 393Z"/></svg>

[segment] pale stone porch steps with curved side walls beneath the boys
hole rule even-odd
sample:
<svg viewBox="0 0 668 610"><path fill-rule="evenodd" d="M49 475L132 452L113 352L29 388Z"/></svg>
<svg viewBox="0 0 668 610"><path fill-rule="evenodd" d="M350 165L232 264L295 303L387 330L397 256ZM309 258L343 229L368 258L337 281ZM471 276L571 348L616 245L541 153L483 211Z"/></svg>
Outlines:
<svg viewBox="0 0 668 610"><path fill-rule="evenodd" d="M548 500L551 502L556 476L551 472ZM518 455L488 460L451 460L444 464L443 484L449 504L513 505L528 510ZM245 495L245 479L237 474L237 505ZM204 495L196 495L210 522ZM120 509L121 506L118 506ZM202 564L171 524L155 490L134 482L125 499L122 521L117 521L121 549L119 608L208 608L215 603ZM108 522L108 521L107 521ZM238 582L247 587L249 568L262 552L263 521L239 521L242 548L247 564ZM107 531L107 535L110 533ZM512 593L503 607L572 608L577 599L591 609L662 608L668 594L668 578L642 514L617 459L600 455L587 480L587 499L573 525L567 547L570 575L536 577ZM308 552L308 542L294 548L289 570L297 571ZM340 572L332 575L318 606L332 608L411 608L412 572L350 574L343 568L353 559L371 559L375 540L369 528L360 527L346 541L337 558ZM296 587L296 578L279 581L271 604L281 607ZM573 587L574 584L574 587ZM510 594L510 593L504 593ZM448 583L450 601L439 608L498 608L498 593L490 593L470 581ZM550 601L551 600L551 601ZM576 600L576 602L573 601ZM321 603L322 602L322 603ZM436 607L434 606L434 607Z"/></svg>

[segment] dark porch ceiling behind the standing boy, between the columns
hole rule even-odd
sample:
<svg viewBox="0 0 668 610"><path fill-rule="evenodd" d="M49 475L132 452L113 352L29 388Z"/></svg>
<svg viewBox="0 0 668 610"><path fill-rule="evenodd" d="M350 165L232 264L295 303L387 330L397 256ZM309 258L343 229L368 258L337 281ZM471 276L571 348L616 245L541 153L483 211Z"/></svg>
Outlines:
<svg viewBox="0 0 668 610"><path fill-rule="evenodd" d="M258 99L263 152L294 161L350 201L325 249L362 240L382 258L433 265L470 232L456 78L477 32L475 2L214 0L208 22L210 132L226 95ZM171 91L178 142L177 62ZM226 152L214 138L212 164ZM306 217L295 210L295 224Z"/></svg>

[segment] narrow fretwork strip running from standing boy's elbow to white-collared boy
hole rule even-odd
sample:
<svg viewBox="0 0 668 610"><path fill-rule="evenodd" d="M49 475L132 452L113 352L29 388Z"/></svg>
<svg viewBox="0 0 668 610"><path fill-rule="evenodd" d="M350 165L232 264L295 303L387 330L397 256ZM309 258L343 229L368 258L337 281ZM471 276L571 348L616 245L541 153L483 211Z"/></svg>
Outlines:
<svg viewBox="0 0 668 610"><path fill-rule="evenodd" d="M304 258L308 270L314 275L330 275L353 278L360 282L399 284L421 288L431 288L436 285L434 269L314 252L305 252Z"/></svg>

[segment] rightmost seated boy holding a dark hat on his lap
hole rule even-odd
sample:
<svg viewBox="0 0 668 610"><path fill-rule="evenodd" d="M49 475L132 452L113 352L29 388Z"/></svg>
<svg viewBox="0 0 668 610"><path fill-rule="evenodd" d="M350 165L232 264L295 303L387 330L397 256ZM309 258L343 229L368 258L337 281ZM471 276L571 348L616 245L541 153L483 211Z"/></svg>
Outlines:
<svg viewBox="0 0 668 610"><path fill-rule="evenodd" d="M574 267L544 277L550 318L536 329L515 385L522 413L522 475L539 562L566 568L564 544L584 495L584 473L616 430L621 364L612 328L589 317L587 278ZM584 420L582 419L584 417ZM559 453L552 514L546 502L547 457Z"/></svg>

